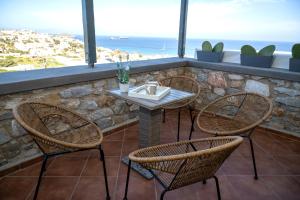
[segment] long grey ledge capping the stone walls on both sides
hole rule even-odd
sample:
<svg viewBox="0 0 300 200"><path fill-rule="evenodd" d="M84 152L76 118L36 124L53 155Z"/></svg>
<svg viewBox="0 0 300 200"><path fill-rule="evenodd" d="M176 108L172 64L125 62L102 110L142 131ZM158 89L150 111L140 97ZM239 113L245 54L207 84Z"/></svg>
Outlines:
<svg viewBox="0 0 300 200"><path fill-rule="evenodd" d="M142 73L176 67L195 67L248 74L275 79L300 81L300 73L278 68L247 67L234 63L209 63L192 58L161 58L155 60L132 62L131 73ZM72 83L93 81L116 76L116 64L96 64L94 68L87 65L51 68L42 70L8 72L0 74L0 95L23 92L33 89L61 86Z"/></svg>

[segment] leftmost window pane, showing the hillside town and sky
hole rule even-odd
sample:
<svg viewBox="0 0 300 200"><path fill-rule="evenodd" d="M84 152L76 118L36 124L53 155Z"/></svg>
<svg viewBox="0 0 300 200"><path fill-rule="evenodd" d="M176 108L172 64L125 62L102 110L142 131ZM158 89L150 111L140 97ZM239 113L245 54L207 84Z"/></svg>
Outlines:
<svg viewBox="0 0 300 200"><path fill-rule="evenodd" d="M0 71L85 64L80 0L0 2Z"/></svg>

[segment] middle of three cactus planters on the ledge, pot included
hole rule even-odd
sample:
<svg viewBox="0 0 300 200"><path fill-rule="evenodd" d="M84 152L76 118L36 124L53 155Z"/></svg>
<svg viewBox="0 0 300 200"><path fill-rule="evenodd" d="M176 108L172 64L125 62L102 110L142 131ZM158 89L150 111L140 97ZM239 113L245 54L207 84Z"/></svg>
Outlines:
<svg viewBox="0 0 300 200"><path fill-rule="evenodd" d="M275 46L269 45L256 52L256 49L250 45L244 45L241 48L241 65L270 68L274 60Z"/></svg>

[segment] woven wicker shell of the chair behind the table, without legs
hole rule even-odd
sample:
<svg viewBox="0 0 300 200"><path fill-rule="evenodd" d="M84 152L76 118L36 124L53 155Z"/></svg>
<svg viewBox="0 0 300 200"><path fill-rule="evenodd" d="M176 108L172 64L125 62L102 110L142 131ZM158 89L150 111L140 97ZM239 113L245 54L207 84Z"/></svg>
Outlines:
<svg viewBox="0 0 300 200"><path fill-rule="evenodd" d="M174 88L177 90L182 90L182 91L191 92L191 93L195 94L195 96L193 98L190 98L190 99L184 100L184 101L180 101L177 103L173 103L171 105L164 107L164 109L177 109L180 107L190 105L200 95L199 83L195 79L192 79L190 77L173 76L173 77L168 77L168 78L162 79L159 81L159 83L162 86L171 87L171 88Z"/></svg>

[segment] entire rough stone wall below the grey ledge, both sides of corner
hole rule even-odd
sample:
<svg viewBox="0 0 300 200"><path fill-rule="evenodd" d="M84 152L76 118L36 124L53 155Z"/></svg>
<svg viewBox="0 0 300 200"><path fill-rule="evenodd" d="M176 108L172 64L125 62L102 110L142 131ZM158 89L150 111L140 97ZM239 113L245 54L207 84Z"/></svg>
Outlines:
<svg viewBox="0 0 300 200"><path fill-rule="evenodd" d="M300 83L227 72L181 67L131 76L132 85L175 75L187 75L201 84L197 105L239 91L266 95L274 102L271 119L264 126L300 136ZM93 120L108 130L136 120L138 107L107 94L118 87L115 78L65 85L0 96L0 171L41 154L31 137L13 119L11 109L25 100L63 105ZM59 128L59 127L58 127Z"/></svg>

